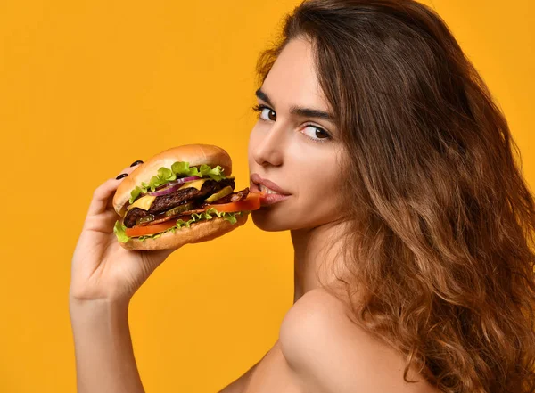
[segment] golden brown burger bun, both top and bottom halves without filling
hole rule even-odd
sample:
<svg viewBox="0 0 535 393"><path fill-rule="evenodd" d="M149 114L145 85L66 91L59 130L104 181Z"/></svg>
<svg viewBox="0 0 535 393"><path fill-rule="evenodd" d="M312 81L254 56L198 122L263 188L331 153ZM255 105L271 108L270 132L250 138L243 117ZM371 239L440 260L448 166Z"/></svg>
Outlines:
<svg viewBox="0 0 535 393"><path fill-rule="evenodd" d="M130 192L137 185L141 185L142 182L149 183L151 177L158 173L158 169L161 167L171 168L171 165L177 161L187 161L190 167L206 164L214 168L219 165L224 169L223 174L225 176L232 174L232 160L228 153L218 146L211 144L185 144L173 147L146 160L123 179L113 196L113 209L117 214L121 217L124 216L124 208L130 199ZM174 233L164 233L156 239L148 238L141 241L137 238L131 238L128 242L119 242L119 244L127 250L177 249L187 243L206 242L229 233L238 226L245 224L247 217L248 213L245 212L241 215L236 215L237 222L235 224L231 224L224 218L213 217L210 220L195 222L189 228L182 227L177 229Z"/></svg>

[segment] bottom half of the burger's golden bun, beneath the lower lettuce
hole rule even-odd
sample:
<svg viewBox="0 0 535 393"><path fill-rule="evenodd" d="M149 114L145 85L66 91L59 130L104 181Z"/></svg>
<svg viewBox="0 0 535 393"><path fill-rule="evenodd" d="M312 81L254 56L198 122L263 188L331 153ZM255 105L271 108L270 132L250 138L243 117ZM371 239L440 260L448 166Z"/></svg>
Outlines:
<svg viewBox="0 0 535 393"><path fill-rule="evenodd" d="M208 242L225 233L235 230L238 226L245 224L249 217L249 212L242 212L236 215L236 223L221 217L213 217L210 220L202 220L177 229L174 233L163 233L156 239L147 238L143 241L132 238L128 242L119 244L127 250L170 250L178 249L188 243Z"/></svg>

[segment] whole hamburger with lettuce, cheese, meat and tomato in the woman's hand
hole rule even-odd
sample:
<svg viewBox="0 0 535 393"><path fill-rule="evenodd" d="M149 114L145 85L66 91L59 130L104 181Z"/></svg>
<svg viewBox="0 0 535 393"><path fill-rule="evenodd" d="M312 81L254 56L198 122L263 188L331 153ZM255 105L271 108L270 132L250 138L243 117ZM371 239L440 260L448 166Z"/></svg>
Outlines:
<svg viewBox="0 0 535 393"><path fill-rule="evenodd" d="M119 184L113 232L127 250L177 249L245 224L260 193L235 191L232 160L210 144L173 147L139 165Z"/></svg>

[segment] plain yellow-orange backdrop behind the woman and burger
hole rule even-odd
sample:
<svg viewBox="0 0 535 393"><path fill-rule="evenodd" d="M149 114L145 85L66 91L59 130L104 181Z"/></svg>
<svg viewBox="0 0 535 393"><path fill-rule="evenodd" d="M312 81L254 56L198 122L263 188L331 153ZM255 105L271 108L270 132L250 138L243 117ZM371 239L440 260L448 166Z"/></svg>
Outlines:
<svg viewBox="0 0 535 393"><path fill-rule="evenodd" d="M170 146L214 143L248 185L255 61L298 3L0 2L1 392L75 391L70 257L98 184ZM531 0L433 4L506 112L534 184ZM250 221L178 250L130 308L146 391L234 381L275 342L292 288L289 233Z"/></svg>

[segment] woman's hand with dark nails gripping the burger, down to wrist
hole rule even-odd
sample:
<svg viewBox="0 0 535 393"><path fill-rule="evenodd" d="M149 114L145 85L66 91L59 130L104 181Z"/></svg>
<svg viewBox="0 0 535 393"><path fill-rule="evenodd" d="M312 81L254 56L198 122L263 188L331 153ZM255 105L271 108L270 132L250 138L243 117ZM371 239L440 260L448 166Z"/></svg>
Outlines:
<svg viewBox="0 0 535 393"><path fill-rule="evenodd" d="M125 168L121 174L129 174L134 169ZM72 258L71 300L128 302L156 267L174 251L133 251L119 245L113 233L113 225L119 216L113 209L112 199L121 182L122 177L109 179L93 194Z"/></svg>

